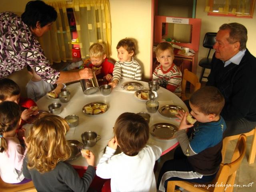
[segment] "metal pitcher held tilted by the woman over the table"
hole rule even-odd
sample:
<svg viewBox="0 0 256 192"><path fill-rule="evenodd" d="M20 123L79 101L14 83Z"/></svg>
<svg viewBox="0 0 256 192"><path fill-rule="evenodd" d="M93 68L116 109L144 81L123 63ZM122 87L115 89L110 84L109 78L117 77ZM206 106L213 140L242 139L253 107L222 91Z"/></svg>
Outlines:
<svg viewBox="0 0 256 192"><path fill-rule="evenodd" d="M81 79L80 83L84 94L90 95L94 94L99 90L98 80L96 78L95 72L93 72L92 79Z"/></svg>

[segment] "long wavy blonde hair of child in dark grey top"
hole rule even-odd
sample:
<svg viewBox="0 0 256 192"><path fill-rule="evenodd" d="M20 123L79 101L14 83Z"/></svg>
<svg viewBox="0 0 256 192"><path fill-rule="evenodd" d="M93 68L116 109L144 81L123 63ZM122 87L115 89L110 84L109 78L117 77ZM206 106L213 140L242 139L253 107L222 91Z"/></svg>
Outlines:
<svg viewBox="0 0 256 192"><path fill-rule="evenodd" d="M65 134L69 126L63 118L42 113L30 129L28 142L28 168L40 173L53 170L57 163L70 157Z"/></svg>

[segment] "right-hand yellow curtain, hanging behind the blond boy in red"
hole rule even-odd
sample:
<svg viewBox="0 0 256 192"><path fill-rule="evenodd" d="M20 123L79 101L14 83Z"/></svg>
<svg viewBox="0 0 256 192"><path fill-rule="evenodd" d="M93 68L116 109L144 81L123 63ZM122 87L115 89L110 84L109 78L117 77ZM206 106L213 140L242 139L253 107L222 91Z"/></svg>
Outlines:
<svg viewBox="0 0 256 192"><path fill-rule="evenodd" d="M106 45L111 55L111 22L108 0L72 0L81 57L89 56L89 47L95 42Z"/></svg>

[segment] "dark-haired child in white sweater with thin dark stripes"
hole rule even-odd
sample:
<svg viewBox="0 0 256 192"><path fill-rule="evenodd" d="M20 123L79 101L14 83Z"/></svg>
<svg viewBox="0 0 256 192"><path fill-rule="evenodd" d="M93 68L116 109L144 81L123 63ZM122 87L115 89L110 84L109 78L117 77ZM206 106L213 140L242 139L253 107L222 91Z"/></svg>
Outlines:
<svg viewBox="0 0 256 192"><path fill-rule="evenodd" d="M113 82L109 83L114 88L120 78L141 80L141 67L133 56L136 55L135 43L130 38L122 39L118 42L117 57L113 71Z"/></svg>

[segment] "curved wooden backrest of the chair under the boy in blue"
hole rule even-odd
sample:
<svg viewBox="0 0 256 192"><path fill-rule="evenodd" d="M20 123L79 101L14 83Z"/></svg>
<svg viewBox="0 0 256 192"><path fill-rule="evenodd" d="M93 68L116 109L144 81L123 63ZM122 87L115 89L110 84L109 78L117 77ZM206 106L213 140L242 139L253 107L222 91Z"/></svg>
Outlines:
<svg viewBox="0 0 256 192"><path fill-rule="evenodd" d="M236 178L236 170L238 170L244 155L246 152L246 136L244 134L240 135L238 142L236 143L236 148L234 150L232 159L230 163L225 163L221 170L219 170L216 179L212 183L218 182L218 184L234 184ZM220 191L220 188L216 188Z"/></svg>

